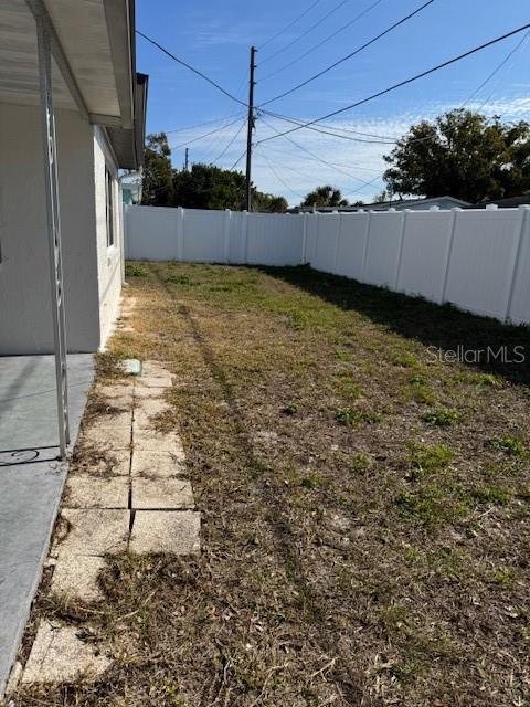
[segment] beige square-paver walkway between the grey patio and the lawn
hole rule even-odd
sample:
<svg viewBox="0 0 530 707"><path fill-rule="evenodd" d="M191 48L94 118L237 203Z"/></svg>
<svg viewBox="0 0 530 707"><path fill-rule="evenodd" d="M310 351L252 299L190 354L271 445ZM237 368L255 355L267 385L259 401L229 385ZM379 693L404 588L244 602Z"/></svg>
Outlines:
<svg viewBox="0 0 530 707"><path fill-rule="evenodd" d="M83 430L81 462L66 482L49 560L52 593L103 599L97 577L106 555L200 552L200 514L180 437L157 430L170 387L169 371L148 361L141 377L96 388L105 412ZM22 683L73 679L107 666L104 651L84 645L75 629L42 620Z"/></svg>

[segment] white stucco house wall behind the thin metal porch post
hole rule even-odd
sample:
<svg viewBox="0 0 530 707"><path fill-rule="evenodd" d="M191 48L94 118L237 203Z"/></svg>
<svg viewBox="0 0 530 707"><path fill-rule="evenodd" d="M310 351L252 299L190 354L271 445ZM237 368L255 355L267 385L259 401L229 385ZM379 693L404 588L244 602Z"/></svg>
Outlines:
<svg viewBox="0 0 530 707"><path fill-rule="evenodd" d="M100 128L56 110L66 331L96 351L116 316L123 230L117 168ZM0 103L0 355L53 352L39 106ZM116 243L107 249L105 163L114 176Z"/></svg>

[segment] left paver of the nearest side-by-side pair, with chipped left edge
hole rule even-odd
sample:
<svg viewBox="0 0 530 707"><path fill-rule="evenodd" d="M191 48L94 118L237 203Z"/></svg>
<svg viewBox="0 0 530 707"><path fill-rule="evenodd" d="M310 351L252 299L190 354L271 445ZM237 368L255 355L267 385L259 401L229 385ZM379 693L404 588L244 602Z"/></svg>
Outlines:
<svg viewBox="0 0 530 707"><path fill-rule="evenodd" d="M72 555L117 555L127 549L128 510L64 508L61 518L68 524L68 532L54 544L53 553L59 559Z"/></svg>

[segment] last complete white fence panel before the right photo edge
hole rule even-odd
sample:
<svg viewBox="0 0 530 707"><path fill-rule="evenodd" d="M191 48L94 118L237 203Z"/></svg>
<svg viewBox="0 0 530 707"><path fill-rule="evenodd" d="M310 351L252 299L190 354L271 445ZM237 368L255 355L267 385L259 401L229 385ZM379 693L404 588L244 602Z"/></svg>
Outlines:
<svg viewBox="0 0 530 707"><path fill-rule="evenodd" d="M456 213L447 302L505 319L520 224L518 209Z"/></svg>

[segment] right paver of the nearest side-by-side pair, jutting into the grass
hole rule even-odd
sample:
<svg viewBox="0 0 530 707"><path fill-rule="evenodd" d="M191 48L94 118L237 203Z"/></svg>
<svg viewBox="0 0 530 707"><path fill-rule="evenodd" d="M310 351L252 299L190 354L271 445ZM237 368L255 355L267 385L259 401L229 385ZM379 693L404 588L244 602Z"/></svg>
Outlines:
<svg viewBox="0 0 530 707"><path fill-rule="evenodd" d="M129 550L137 555L198 555L201 514L197 510L137 510Z"/></svg>

